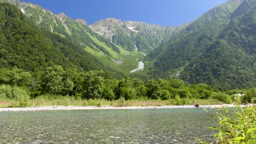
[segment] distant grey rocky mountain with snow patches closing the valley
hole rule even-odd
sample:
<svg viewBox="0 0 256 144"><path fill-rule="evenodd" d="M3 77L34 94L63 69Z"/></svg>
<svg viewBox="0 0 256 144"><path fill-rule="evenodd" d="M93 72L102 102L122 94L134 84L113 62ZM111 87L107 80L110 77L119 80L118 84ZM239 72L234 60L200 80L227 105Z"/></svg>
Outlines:
<svg viewBox="0 0 256 144"><path fill-rule="evenodd" d="M108 18L97 21L89 27L95 33L114 44L121 45L126 50L148 53L188 25L189 23L178 27L165 27Z"/></svg>

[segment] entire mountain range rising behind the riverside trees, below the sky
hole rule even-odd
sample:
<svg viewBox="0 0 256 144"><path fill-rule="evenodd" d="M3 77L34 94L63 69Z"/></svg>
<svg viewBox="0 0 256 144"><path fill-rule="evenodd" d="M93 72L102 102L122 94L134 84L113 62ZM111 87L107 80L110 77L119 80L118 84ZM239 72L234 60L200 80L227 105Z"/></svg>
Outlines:
<svg viewBox="0 0 256 144"><path fill-rule="evenodd" d="M128 73L144 52L149 53L145 69L130 76L178 78L223 90L256 86L255 0L230 0L178 27L115 18L88 27L85 20L39 5L0 2L18 8L1 3L1 68L36 71L61 65Z"/></svg>

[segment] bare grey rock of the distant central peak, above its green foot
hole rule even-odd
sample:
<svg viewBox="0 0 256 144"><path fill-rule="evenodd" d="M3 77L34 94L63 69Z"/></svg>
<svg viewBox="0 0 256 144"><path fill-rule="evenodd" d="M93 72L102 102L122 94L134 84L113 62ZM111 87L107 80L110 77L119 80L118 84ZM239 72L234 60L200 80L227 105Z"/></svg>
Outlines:
<svg viewBox="0 0 256 144"><path fill-rule="evenodd" d="M132 39L131 35L139 35L147 41L152 49L158 47L161 43L164 43L170 39L173 35L180 32L187 27L190 23L185 23L181 26L160 26L154 24L148 24L145 22L137 21L121 21L115 18L108 18L97 21L89 27L95 33L112 41L117 32L123 33L125 37ZM113 42L113 41L112 41ZM132 41L133 44L139 43L138 41Z"/></svg>

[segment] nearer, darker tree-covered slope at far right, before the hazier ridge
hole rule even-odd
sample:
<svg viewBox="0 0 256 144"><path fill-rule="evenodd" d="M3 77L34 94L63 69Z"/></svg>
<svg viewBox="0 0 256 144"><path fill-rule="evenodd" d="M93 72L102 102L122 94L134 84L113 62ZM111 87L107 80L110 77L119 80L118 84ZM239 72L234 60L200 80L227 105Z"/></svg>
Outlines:
<svg viewBox="0 0 256 144"><path fill-rule="evenodd" d="M183 79L222 88L256 86L255 2L242 2L218 40L184 69Z"/></svg>

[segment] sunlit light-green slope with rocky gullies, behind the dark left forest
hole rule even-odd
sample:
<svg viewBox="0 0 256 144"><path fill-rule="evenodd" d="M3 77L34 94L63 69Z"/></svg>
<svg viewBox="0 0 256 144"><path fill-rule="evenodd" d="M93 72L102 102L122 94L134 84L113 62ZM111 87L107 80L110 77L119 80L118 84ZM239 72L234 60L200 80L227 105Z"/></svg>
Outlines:
<svg viewBox="0 0 256 144"><path fill-rule="evenodd" d="M20 2L19 0L0 0L0 2L9 2L18 7L22 13L36 22L39 27L61 35L63 38L73 41L84 47L84 49L97 57L107 67L119 71L129 72L137 67L137 58L143 55L139 52L125 51L123 47L115 45L100 35L91 31L86 26L86 21L73 20L63 13L53 14L39 5ZM123 63L117 64L117 61Z"/></svg>

